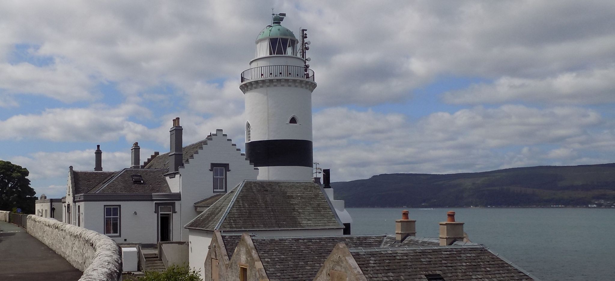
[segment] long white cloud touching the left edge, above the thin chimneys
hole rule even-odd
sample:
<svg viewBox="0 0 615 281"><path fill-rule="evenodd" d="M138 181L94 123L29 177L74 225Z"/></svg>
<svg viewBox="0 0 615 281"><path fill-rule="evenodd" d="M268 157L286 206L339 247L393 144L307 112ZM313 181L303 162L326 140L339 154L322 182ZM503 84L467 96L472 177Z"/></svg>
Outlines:
<svg viewBox="0 0 615 281"><path fill-rule="evenodd" d="M148 137L148 128L129 121L129 117L149 114L144 107L129 104L116 108L46 109L41 114L14 115L0 121L0 140L105 142L119 137L142 139Z"/></svg>

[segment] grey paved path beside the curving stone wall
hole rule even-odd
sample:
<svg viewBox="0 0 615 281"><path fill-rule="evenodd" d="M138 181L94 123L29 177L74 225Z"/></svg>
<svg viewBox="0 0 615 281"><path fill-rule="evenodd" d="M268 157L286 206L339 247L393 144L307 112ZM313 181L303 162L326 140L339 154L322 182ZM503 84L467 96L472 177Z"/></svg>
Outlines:
<svg viewBox="0 0 615 281"><path fill-rule="evenodd" d="M82 272L73 268L26 229L0 221L0 280L79 280Z"/></svg>

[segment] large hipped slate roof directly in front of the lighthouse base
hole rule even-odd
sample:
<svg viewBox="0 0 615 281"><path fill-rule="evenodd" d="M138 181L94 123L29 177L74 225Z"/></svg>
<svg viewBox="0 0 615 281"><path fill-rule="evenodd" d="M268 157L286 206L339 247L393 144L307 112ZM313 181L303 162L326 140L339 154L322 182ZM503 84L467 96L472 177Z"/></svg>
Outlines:
<svg viewBox="0 0 615 281"><path fill-rule="evenodd" d="M244 180L190 221L189 229L343 229L313 182Z"/></svg>

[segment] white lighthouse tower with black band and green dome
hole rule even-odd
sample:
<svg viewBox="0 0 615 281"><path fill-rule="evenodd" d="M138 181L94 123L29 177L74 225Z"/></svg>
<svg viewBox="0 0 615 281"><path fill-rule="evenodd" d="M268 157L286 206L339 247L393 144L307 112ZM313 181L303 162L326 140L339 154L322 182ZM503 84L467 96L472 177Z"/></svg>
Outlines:
<svg viewBox="0 0 615 281"><path fill-rule="evenodd" d="M256 37L255 58L241 74L245 98L245 154L260 180L312 180L312 91L314 71L300 39L281 25L285 14Z"/></svg>

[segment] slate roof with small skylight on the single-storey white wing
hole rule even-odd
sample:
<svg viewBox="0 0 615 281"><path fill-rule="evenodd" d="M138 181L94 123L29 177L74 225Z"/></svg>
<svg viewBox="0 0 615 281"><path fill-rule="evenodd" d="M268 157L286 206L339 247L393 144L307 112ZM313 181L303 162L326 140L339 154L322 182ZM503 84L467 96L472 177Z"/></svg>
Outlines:
<svg viewBox="0 0 615 281"><path fill-rule="evenodd" d="M166 169L125 168L113 175L88 193L170 193L164 177Z"/></svg>

